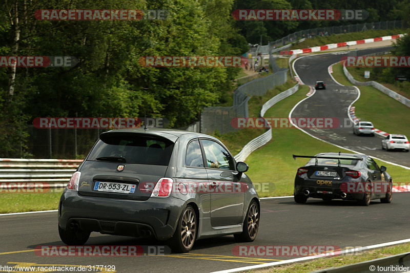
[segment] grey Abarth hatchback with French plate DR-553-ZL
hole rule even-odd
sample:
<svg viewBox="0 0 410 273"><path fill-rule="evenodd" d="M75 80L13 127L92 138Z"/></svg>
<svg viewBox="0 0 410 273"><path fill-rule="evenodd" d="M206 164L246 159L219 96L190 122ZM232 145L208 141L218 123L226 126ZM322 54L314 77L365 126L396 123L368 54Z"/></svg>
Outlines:
<svg viewBox="0 0 410 273"><path fill-rule="evenodd" d="M154 236L173 251L195 240L255 240L260 202L249 166L215 137L178 130L102 133L61 195L58 231L68 245L91 232Z"/></svg>

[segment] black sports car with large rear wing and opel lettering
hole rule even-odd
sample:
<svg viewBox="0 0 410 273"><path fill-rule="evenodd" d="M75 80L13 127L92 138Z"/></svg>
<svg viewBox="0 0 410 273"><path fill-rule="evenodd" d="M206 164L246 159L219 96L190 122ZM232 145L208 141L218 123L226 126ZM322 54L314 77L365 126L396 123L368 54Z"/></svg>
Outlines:
<svg viewBox="0 0 410 273"><path fill-rule="evenodd" d="M361 154L321 153L300 167L295 177L294 198L304 203L309 197L357 200L369 205L370 200L392 201L392 177L386 167L379 167L370 157Z"/></svg>

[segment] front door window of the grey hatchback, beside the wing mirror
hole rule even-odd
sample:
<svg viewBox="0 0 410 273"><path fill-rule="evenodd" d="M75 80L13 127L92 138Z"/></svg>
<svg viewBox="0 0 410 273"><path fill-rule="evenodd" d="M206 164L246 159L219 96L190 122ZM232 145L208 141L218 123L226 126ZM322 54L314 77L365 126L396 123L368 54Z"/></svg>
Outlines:
<svg viewBox="0 0 410 273"><path fill-rule="evenodd" d="M232 156L219 143L202 139L203 150L207 158L207 167L235 171Z"/></svg>

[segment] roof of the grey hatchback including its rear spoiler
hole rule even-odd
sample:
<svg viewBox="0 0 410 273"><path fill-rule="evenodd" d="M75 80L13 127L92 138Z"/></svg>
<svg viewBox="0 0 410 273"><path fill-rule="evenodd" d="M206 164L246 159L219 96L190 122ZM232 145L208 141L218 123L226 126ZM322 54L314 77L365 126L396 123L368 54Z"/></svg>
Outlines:
<svg viewBox="0 0 410 273"><path fill-rule="evenodd" d="M195 132L188 132L188 131L183 131L183 130L177 130L177 129L162 129L162 128L149 128L147 130L143 128L127 128L127 129L115 129L111 130L108 132L104 132L103 134L115 134L115 133L135 133L135 134L147 134L147 135L154 135L154 136L160 136L163 138L167 138L171 140L172 142L175 142L178 137L181 135L192 135L192 137L207 137L207 138L213 138L213 136L206 135L206 134L201 134L201 133L195 133Z"/></svg>

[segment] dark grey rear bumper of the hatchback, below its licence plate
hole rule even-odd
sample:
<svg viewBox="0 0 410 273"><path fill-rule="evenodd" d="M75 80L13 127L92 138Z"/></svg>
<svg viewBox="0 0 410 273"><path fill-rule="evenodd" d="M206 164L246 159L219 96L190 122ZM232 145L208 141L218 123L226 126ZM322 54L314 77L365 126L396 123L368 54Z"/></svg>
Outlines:
<svg viewBox="0 0 410 273"><path fill-rule="evenodd" d="M174 234L184 204L173 196L135 201L81 196L66 190L58 206L58 225L112 235L152 234L158 240L167 240Z"/></svg>

